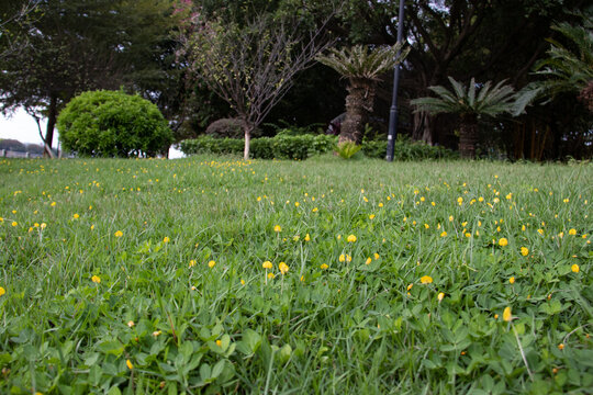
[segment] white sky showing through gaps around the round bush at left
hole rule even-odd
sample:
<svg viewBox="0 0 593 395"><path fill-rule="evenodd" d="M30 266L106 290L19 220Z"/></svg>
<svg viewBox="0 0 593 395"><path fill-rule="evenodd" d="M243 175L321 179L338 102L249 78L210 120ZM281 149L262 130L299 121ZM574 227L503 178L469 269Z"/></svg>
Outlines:
<svg viewBox="0 0 593 395"><path fill-rule="evenodd" d="M47 122L45 120L42 120L41 126L43 133L45 133L46 125ZM35 120L33 120L33 117L23 110L18 110L10 117L0 114L0 139L3 138L18 139L21 143L33 143L40 145L43 144ZM54 142L52 144L53 148L57 147L58 138L59 134L56 129L54 132ZM169 149L169 159L182 157L183 153L181 153L180 150L172 147Z"/></svg>

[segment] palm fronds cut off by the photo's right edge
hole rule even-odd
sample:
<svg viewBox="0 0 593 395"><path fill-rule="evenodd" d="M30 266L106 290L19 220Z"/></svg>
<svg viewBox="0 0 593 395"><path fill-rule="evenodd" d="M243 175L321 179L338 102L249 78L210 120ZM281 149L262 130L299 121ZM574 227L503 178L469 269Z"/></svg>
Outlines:
<svg viewBox="0 0 593 395"><path fill-rule="evenodd" d="M549 38L548 58L536 64L536 74L547 77L536 82L544 95L553 97L559 92L579 93L579 99L593 112L593 18L583 14L585 26L560 23L552 26L571 42L570 47ZM571 49L572 48L572 49Z"/></svg>

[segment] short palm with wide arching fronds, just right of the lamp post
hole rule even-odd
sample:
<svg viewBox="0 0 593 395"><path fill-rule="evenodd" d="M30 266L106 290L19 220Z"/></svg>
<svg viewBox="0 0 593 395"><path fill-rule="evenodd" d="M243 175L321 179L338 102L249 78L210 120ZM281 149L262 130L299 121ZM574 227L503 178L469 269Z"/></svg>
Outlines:
<svg viewBox="0 0 593 395"><path fill-rule="evenodd" d="M445 87L429 87L438 98L419 98L411 101L416 106L416 112L426 111L430 114L450 113L458 114L459 125L459 154L462 158L475 156L475 143L478 142L478 125L481 116L496 116L510 113L514 116L521 114L530 102L535 92L526 94L516 93L513 87L501 81L492 86L488 81L478 92L478 84L472 78L469 88L449 77L452 91Z"/></svg>

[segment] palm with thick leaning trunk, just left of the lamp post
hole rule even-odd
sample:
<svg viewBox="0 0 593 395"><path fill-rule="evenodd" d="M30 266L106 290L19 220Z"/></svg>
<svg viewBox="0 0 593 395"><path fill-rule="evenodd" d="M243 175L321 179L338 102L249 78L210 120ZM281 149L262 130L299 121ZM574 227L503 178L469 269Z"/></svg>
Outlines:
<svg viewBox="0 0 593 395"><path fill-rule="evenodd" d="M348 78L346 120L342 124L339 143L361 142L365 125L372 112L377 82L382 74L392 70L405 58L410 48L402 50L402 47L401 43L374 49L356 45L340 50L332 48L328 55L317 56L320 63Z"/></svg>

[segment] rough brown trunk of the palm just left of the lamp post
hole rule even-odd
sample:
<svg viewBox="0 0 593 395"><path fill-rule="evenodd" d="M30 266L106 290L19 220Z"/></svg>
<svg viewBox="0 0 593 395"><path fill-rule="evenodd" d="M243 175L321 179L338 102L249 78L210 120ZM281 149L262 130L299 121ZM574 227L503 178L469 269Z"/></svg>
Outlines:
<svg viewBox="0 0 593 395"><path fill-rule="evenodd" d="M346 120L342 124L338 144L362 142L365 125L374 103L374 81L369 79L350 78L346 97Z"/></svg>

